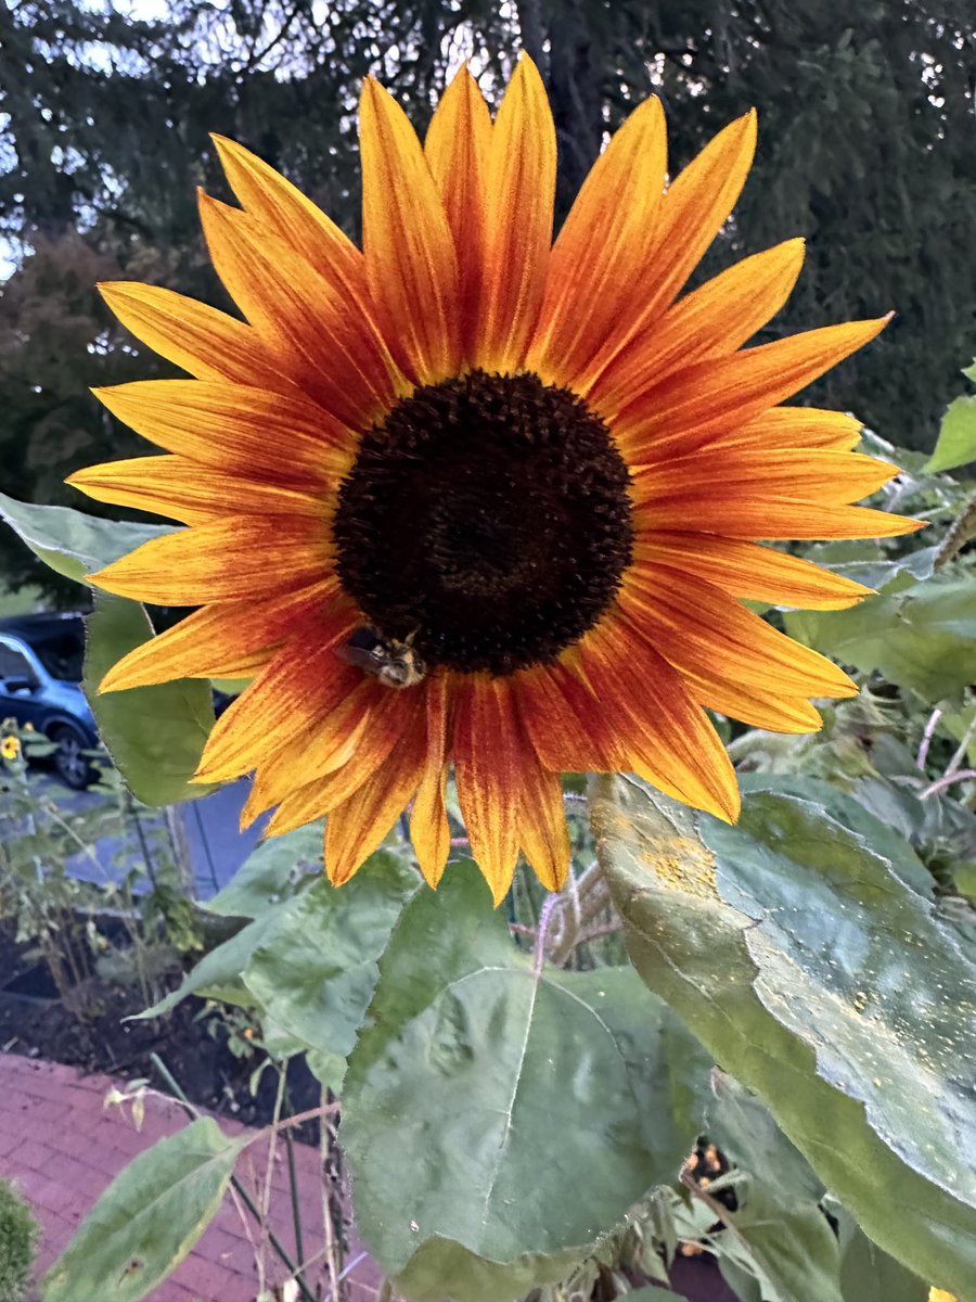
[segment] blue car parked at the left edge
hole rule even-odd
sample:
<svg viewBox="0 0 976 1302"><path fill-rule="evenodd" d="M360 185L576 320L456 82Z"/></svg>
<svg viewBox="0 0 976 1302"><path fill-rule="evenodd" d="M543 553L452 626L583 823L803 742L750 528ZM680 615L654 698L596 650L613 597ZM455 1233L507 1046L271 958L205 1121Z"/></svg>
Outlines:
<svg viewBox="0 0 976 1302"><path fill-rule="evenodd" d="M0 618L0 720L16 719L56 743L61 781L82 790L98 776L86 751L99 737L81 687L85 624L81 615Z"/></svg>

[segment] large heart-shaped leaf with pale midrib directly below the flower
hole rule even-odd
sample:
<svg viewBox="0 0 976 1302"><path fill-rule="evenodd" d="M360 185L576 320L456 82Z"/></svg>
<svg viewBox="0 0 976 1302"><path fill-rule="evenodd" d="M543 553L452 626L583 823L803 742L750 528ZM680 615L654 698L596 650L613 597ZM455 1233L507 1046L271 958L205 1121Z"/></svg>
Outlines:
<svg viewBox="0 0 976 1302"><path fill-rule="evenodd" d="M536 971L474 866L453 866L405 910L349 1060L364 1242L413 1298L565 1276L674 1178L709 1062L632 970Z"/></svg>

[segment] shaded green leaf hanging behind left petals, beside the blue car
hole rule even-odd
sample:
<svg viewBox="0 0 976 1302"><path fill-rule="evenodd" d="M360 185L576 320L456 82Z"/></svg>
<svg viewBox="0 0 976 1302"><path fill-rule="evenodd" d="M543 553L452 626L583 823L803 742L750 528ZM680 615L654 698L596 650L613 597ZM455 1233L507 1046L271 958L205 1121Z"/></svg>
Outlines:
<svg viewBox="0 0 976 1302"><path fill-rule="evenodd" d="M99 693L109 668L150 641L152 625L137 602L95 591L86 629L85 694L102 741L133 796L143 805L174 805L212 792L213 786L190 781L213 727L210 685L180 678Z"/></svg>

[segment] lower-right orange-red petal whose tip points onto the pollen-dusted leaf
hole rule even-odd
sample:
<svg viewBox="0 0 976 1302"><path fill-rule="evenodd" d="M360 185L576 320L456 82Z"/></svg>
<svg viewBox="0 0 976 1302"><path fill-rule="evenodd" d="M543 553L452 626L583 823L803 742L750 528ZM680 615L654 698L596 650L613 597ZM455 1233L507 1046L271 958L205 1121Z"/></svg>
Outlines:
<svg viewBox="0 0 976 1302"><path fill-rule="evenodd" d="M627 755L621 767L686 805L735 822L735 771L681 674L613 616L587 633L579 648L599 710Z"/></svg>

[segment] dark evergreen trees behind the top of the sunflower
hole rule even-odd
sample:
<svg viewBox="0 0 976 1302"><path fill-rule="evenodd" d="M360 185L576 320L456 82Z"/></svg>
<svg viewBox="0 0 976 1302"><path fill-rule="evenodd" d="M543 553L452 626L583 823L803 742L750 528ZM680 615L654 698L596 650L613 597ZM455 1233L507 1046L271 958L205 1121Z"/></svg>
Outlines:
<svg viewBox="0 0 976 1302"><path fill-rule="evenodd" d="M759 160L713 272L793 234L808 263L769 336L898 319L811 401L925 448L976 339L971 0L0 0L0 486L70 503L70 470L131 454L87 395L160 374L92 285L147 279L226 306L195 189L208 132L249 145L350 233L355 104L376 72L423 125L466 56L496 99L518 49L544 69L565 214L608 128L662 94L679 167L760 109ZM91 509L86 504L86 509ZM13 536L8 583L49 582Z"/></svg>

